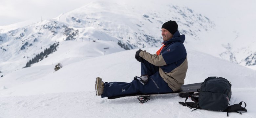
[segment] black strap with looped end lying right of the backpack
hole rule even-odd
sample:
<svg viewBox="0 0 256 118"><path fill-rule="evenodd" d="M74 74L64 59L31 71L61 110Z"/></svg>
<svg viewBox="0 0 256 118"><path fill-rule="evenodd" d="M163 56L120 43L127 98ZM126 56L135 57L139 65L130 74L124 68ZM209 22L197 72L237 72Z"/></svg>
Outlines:
<svg viewBox="0 0 256 118"><path fill-rule="evenodd" d="M243 101L240 102L239 104L234 104L234 105L228 106L227 109L224 110L224 112L227 112L227 116L228 116L228 112L237 112L237 113L240 113L240 114L242 114L242 113L239 112L239 111L247 112L247 109L245 108L246 103L245 103L245 107L242 107L242 104L243 104Z"/></svg>

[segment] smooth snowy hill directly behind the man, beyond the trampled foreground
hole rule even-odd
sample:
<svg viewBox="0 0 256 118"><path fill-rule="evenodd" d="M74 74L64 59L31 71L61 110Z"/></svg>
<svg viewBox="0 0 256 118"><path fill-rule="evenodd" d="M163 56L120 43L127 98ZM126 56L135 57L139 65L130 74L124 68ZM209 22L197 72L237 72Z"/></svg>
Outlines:
<svg viewBox="0 0 256 118"><path fill-rule="evenodd" d="M154 53L156 48L146 49ZM134 59L136 50L121 51L105 56L66 63L53 73L54 54L36 66L14 71L0 80L1 96L33 95L55 92L93 91L97 76L104 81L130 82L140 75L140 64ZM57 55L58 56L58 55ZM255 88L256 71L213 57L188 50L188 72L185 84L202 82L208 76L227 78L234 88ZM33 89L36 88L36 89ZM24 92L26 91L26 92Z"/></svg>

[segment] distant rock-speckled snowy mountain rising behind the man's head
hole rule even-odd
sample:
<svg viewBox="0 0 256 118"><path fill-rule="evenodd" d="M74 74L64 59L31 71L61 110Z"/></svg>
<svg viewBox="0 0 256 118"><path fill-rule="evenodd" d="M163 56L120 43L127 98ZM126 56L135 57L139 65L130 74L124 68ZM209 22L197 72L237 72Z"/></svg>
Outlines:
<svg viewBox="0 0 256 118"><path fill-rule="evenodd" d="M8 30L10 26L1 27L4 29L0 32L1 75L25 67L29 60L46 48L67 40L78 43L89 40L113 41L115 43L110 48L119 45L123 49L160 47L161 26L170 19L176 20L180 32L190 37L186 43L199 39L200 34L215 26L206 16L187 7L163 5L157 7L158 10L149 9L154 3L152 1L148 6L141 6L129 2L95 1L51 20L25 27L17 25L18 29L14 30Z"/></svg>

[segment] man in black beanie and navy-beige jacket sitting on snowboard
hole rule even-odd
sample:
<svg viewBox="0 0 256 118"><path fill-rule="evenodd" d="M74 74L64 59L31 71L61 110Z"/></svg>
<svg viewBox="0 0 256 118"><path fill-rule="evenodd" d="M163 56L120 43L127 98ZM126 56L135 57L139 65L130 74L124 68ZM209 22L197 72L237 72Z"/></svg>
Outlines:
<svg viewBox="0 0 256 118"><path fill-rule="evenodd" d="M168 21L162 25L163 46L150 54L139 49L135 58L141 64L141 76L131 83L105 82L97 77L96 95L112 97L133 93L165 93L177 91L184 84L187 72L187 52L178 24Z"/></svg>

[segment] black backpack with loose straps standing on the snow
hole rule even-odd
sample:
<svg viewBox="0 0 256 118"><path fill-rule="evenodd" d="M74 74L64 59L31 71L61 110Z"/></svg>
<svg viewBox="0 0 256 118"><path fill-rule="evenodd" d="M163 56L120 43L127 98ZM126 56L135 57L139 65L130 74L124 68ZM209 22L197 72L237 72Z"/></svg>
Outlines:
<svg viewBox="0 0 256 118"><path fill-rule="evenodd" d="M227 112L237 112L247 111L245 107L241 105L243 102L235 105L229 105L229 100L231 98L231 83L222 77L208 77L202 83L198 93L182 93L181 97L185 97L185 102L179 102L183 106L196 109L207 109ZM188 97L191 97L194 102L186 102ZM244 102L245 103L245 102ZM196 110L194 109L194 110ZM192 111L194 111L192 110Z"/></svg>

